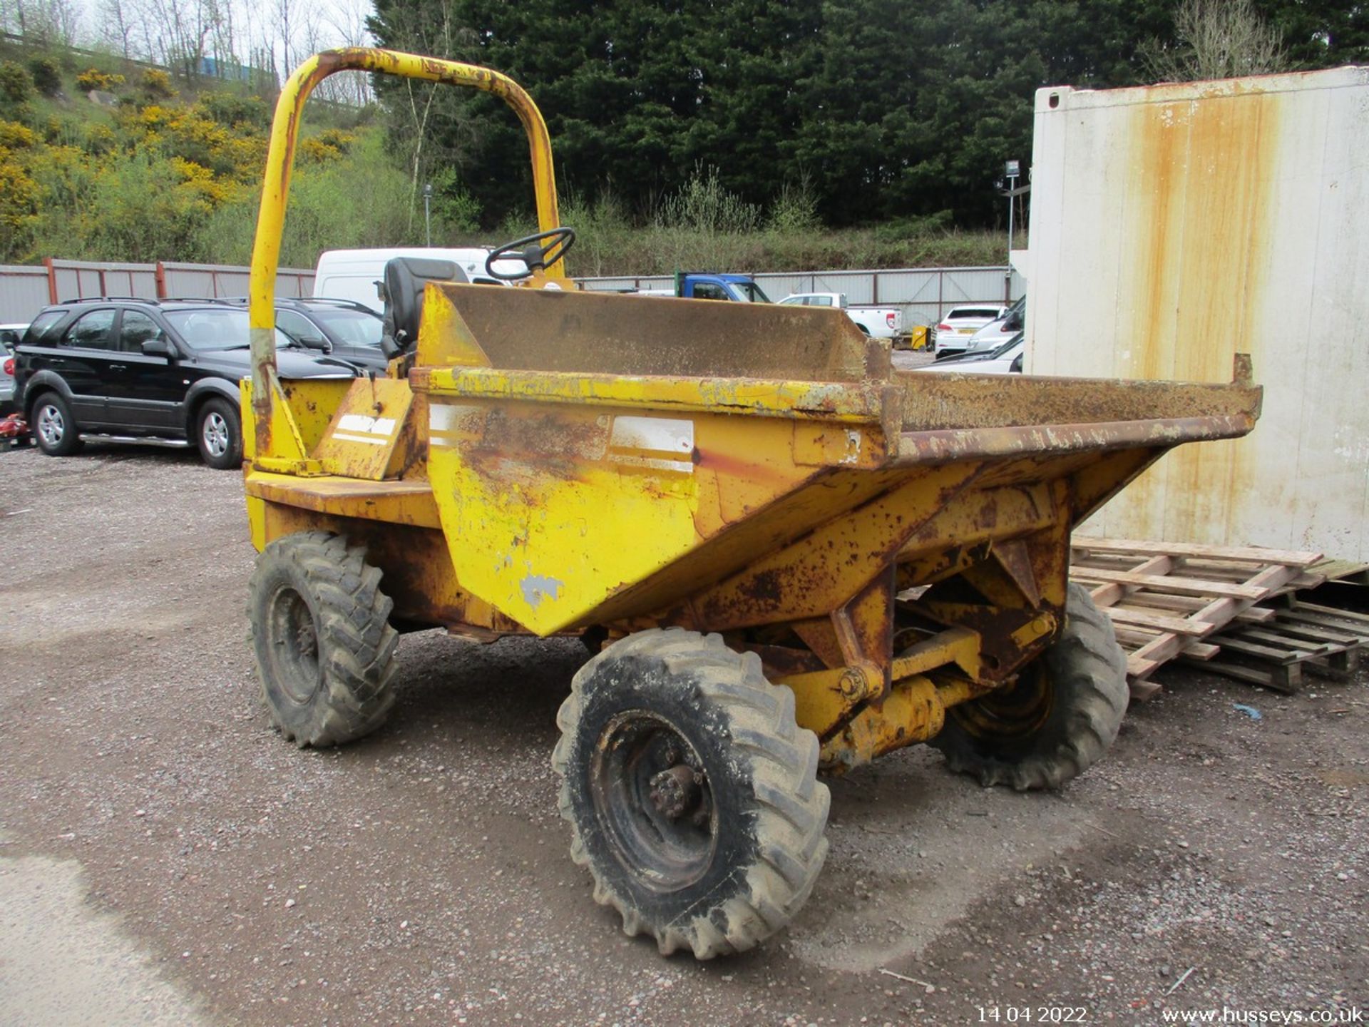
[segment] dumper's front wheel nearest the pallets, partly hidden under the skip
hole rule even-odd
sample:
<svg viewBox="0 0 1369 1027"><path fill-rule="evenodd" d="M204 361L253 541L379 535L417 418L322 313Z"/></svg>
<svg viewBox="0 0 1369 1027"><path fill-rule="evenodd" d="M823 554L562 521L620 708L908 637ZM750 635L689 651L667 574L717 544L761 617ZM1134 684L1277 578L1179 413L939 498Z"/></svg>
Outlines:
<svg viewBox="0 0 1369 1027"><path fill-rule="evenodd" d="M931 744L953 771L1019 791L1055 789L1113 744L1127 712L1127 659L1112 620L1071 585L1065 627L1003 692L951 707Z"/></svg>

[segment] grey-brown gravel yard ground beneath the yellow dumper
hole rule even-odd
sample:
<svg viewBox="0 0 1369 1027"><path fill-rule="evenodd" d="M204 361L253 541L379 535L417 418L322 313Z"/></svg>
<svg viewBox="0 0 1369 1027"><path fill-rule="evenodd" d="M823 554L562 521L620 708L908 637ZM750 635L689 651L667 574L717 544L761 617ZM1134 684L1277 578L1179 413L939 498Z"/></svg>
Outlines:
<svg viewBox="0 0 1369 1027"><path fill-rule="evenodd" d="M0 482L0 1024L88 1023L81 996L104 1023L208 1024L1369 1000L1364 674L1284 697L1169 672L1060 794L982 790L925 748L834 781L797 922L697 964L623 937L567 854L549 755L578 644L409 635L389 726L298 750L252 678L237 475L89 446L3 452Z"/></svg>

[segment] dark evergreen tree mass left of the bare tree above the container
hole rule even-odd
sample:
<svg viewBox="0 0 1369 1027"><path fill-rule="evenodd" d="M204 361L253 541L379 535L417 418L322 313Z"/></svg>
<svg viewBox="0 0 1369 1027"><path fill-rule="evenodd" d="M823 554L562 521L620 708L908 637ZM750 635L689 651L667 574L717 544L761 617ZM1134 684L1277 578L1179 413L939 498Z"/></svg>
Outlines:
<svg viewBox="0 0 1369 1027"><path fill-rule="evenodd" d="M1001 162L1029 153L1034 89L1135 82L1136 47L1168 25L1169 1L379 0L371 29L420 48L422 26L442 26L426 52L524 84L567 192L613 193L638 219L702 162L753 204L805 181L830 223L941 210L984 223ZM415 127L381 88L392 123ZM431 119L433 159L463 170L486 223L526 210L508 111L439 103L459 116L446 133Z"/></svg>

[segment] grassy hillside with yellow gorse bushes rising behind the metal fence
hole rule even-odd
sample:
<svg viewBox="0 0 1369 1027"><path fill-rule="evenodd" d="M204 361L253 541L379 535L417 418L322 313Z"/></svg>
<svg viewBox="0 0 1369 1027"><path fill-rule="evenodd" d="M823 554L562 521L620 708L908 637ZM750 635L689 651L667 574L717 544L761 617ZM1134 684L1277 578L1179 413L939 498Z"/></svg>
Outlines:
<svg viewBox="0 0 1369 1027"><path fill-rule="evenodd" d="M245 86L172 78L114 56L0 41L0 263L246 263L272 103ZM422 199L376 110L314 101L305 122L282 263L312 267L320 251L340 246L420 245ZM433 178L435 245L490 245L533 231L519 218L481 231L481 211L456 170ZM570 197L563 222L579 231L570 262L578 275L1003 259L998 233L957 231L939 218L831 231L813 208L802 189L769 210L741 203L715 170L697 167L646 216L628 218L611 199L585 205Z"/></svg>

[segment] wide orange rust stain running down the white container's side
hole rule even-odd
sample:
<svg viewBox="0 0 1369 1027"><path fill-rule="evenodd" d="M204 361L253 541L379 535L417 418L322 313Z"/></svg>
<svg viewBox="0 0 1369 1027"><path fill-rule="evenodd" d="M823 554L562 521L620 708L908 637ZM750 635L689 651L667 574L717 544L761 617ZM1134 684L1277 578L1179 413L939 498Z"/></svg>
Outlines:
<svg viewBox="0 0 1369 1027"><path fill-rule="evenodd" d="M1224 382L1249 352L1251 308L1275 245L1276 93L1243 92L1140 104L1121 245L1132 267L1134 320L1120 333L1128 377ZM1125 288L1125 286L1124 286ZM1257 379L1259 353L1254 355ZM1181 446L1132 486L1144 537L1221 541L1255 468L1240 442ZM1117 527L1109 526L1109 531Z"/></svg>

